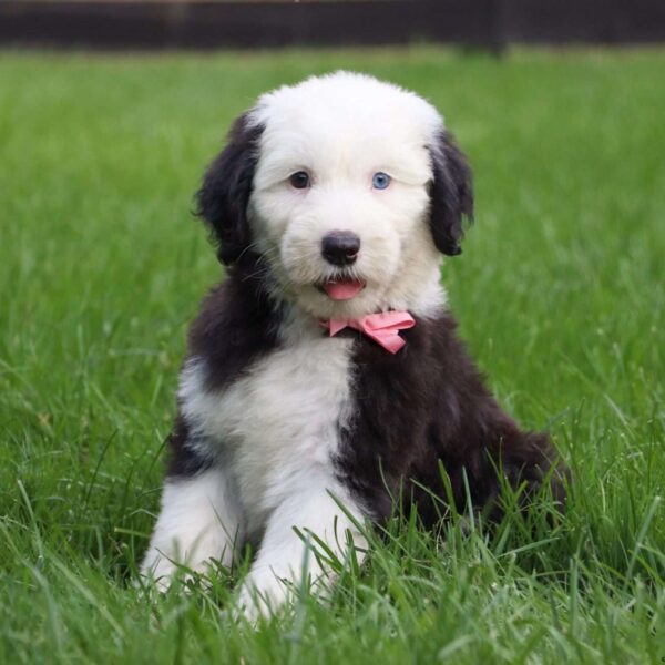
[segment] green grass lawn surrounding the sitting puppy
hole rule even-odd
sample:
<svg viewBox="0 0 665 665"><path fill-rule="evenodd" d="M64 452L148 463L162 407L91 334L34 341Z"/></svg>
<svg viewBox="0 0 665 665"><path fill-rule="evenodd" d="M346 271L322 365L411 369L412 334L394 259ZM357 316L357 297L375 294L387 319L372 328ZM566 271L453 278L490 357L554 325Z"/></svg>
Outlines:
<svg viewBox="0 0 665 665"><path fill-rule="evenodd" d="M574 481L551 532L391 525L328 605L255 631L219 612L237 572L162 598L131 580L219 277L192 194L257 93L338 66L430 98L469 153L452 307ZM658 50L0 54L0 662L662 663L663 71Z"/></svg>

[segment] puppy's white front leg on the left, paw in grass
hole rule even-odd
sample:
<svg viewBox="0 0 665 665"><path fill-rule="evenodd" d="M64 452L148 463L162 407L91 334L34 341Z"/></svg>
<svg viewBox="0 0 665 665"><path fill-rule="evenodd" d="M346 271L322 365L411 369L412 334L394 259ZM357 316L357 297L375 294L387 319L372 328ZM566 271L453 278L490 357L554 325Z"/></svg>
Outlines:
<svg viewBox="0 0 665 665"><path fill-rule="evenodd" d="M211 559L231 565L239 523L239 507L223 469L166 478L141 574L165 590L181 565L196 572L204 572Z"/></svg>

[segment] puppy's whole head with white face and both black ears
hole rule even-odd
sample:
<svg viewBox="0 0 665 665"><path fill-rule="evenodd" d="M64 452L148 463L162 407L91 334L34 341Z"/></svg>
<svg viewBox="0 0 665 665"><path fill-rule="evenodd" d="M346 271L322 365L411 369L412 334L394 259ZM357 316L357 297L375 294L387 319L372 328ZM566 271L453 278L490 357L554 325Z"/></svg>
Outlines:
<svg viewBox="0 0 665 665"><path fill-rule="evenodd" d="M260 98L225 153L200 193L222 258L263 255L279 294L313 316L408 309L438 283L439 252L459 252L470 172L412 93L344 72L309 79Z"/></svg>

